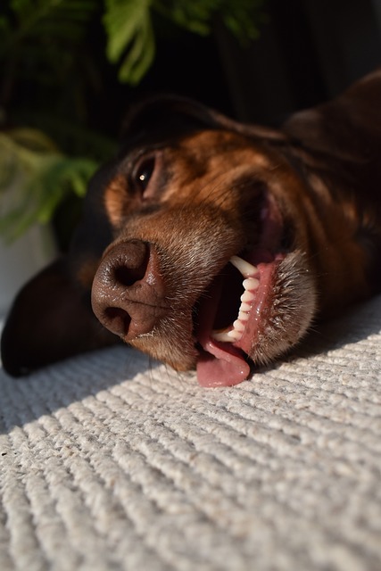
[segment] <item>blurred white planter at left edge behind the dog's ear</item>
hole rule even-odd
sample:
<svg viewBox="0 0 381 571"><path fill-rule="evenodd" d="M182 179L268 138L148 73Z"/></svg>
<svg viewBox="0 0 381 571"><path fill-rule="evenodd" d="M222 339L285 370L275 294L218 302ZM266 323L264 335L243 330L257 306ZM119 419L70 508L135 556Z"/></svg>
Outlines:
<svg viewBox="0 0 381 571"><path fill-rule="evenodd" d="M49 226L35 226L12 244L0 238L0 315L25 282L54 260L56 247Z"/></svg>

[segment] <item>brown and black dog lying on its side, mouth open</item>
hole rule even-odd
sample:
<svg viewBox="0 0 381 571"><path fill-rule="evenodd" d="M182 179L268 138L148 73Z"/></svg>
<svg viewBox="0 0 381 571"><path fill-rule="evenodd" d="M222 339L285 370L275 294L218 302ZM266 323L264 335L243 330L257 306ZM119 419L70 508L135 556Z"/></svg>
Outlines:
<svg viewBox="0 0 381 571"><path fill-rule="evenodd" d="M121 340L236 385L381 291L381 70L280 129L182 97L128 116L68 255L17 296L12 376Z"/></svg>

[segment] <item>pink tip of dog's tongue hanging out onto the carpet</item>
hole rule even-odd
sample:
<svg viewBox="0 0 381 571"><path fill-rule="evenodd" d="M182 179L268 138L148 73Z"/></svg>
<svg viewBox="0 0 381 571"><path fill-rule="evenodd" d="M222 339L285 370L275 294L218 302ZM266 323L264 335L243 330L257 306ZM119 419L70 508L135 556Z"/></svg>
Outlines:
<svg viewBox="0 0 381 571"><path fill-rule="evenodd" d="M202 386L230 386L242 383L249 376L250 366L241 352L208 338L203 343L205 351L197 362L197 379Z"/></svg>

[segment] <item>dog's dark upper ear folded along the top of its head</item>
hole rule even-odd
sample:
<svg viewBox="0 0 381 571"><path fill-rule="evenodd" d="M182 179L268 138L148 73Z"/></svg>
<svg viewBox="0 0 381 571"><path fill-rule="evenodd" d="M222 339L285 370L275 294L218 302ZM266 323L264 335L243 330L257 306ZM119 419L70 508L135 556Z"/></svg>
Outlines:
<svg viewBox="0 0 381 571"><path fill-rule="evenodd" d="M158 95L132 107L122 129L122 138L130 143L159 134L175 137L190 130L226 129L247 137L283 138L276 129L247 125L229 119L203 103L176 95Z"/></svg>

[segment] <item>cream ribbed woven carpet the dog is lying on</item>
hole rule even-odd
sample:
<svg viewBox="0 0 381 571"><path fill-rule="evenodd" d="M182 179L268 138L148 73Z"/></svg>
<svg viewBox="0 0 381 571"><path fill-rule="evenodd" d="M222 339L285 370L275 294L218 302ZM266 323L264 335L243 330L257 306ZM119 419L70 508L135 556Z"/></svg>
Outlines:
<svg viewBox="0 0 381 571"><path fill-rule="evenodd" d="M115 348L0 372L0 569L381 569L381 298L203 389Z"/></svg>

